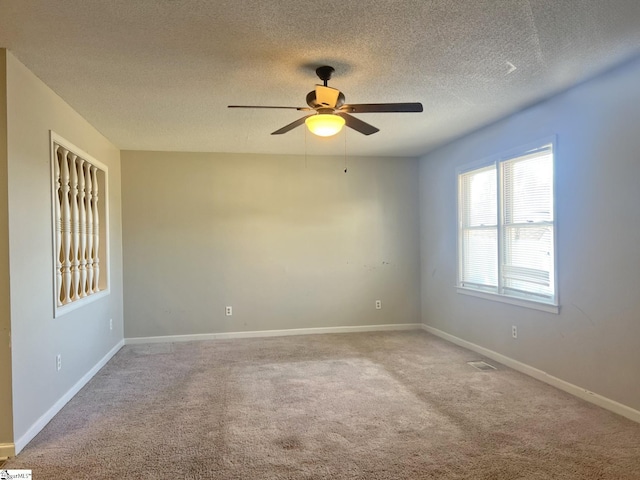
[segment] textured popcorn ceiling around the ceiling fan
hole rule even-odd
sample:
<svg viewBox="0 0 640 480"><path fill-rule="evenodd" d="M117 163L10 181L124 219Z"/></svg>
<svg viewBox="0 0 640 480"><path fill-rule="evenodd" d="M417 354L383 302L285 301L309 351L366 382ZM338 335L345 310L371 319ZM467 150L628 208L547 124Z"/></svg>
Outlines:
<svg viewBox="0 0 640 480"><path fill-rule="evenodd" d="M640 54L640 0L0 0L8 48L122 149L405 155ZM316 66L380 132L270 133ZM640 85L640 79L639 79Z"/></svg>

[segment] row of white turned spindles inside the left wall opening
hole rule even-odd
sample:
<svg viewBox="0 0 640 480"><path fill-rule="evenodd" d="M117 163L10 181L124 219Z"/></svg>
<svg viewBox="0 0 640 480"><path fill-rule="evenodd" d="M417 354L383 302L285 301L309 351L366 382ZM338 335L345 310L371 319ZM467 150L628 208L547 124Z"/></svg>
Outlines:
<svg viewBox="0 0 640 480"><path fill-rule="evenodd" d="M99 169L53 145L56 305L100 291Z"/></svg>

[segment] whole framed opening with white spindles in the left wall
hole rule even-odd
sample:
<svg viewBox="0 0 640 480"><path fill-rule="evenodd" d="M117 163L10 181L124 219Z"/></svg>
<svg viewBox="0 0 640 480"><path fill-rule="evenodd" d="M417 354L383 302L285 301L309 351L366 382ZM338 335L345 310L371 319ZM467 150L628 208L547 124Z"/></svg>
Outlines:
<svg viewBox="0 0 640 480"><path fill-rule="evenodd" d="M107 167L51 132L54 312L108 293Z"/></svg>

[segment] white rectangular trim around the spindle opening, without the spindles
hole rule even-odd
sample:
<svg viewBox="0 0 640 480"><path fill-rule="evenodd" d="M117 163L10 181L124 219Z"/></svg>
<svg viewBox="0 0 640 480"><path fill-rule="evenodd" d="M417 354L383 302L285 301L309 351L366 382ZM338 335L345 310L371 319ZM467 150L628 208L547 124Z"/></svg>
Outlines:
<svg viewBox="0 0 640 480"><path fill-rule="evenodd" d="M57 296L57 285L56 285L56 256L57 252L57 241L56 241L56 209L55 204L57 202L57 191L55 185L55 168L54 162L57 161L55 154L55 144L64 147L75 155L83 158L88 163L94 165L99 170L102 170L104 173L104 189L101 192L101 202L103 204L103 217L100 217L100 224L102 230L104 232L104 259L101 260L101 264L104 264L102 274L104 275L104 289L100 290L97 293L93 293L87 297L81 298L79 300L75 300L71 303L67 303L65 305L58 306L56 301ZM99 160L96 160L92 155L88 154L81 148L78 148L76 145L61 137L53 130L49 130L49 148L50 148L50 168L51 168L51 244L52 244L52 256L51 256L51 273L52 273L52 300L53 300L53 318L61 317L62 315L66 315L69 312L82 308L90 303L93 303L101 298L104 298L111 294L111 265L110 265L110 230L109 230L109 168Z"/></svg>

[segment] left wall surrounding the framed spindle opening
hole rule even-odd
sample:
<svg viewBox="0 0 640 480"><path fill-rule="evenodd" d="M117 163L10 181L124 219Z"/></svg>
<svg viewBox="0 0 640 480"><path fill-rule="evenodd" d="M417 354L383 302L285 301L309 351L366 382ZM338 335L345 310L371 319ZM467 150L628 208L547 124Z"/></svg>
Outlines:
<svg viewBox="0 0 640 480"><path fill-rule="evenodd" d="M7 92L13 423L19 442L122 340L120 152L10 53ZM49 130L109 168L111 293L58 318L53 318ZM62 355L59 372L57 354Z"/></svg>

